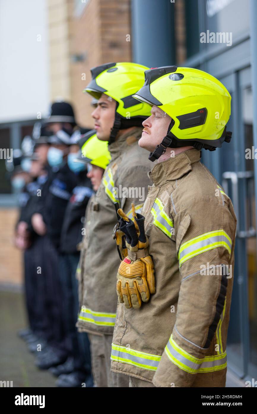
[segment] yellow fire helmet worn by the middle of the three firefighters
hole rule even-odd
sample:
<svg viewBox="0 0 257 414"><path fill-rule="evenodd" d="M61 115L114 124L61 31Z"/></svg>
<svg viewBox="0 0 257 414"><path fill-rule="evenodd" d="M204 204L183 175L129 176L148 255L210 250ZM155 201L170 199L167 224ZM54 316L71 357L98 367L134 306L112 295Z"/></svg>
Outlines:
<svg viewBox="0 0 257 414"><path fill-rule="evenodd" d="M148 67L131 62L106 63L91 69L92 80L83 92L95 99L106 94L117 102L109 144L114 142L120 129L141 127L142 122L151 115L148 105L132 97L143 86L146 69Z"/></svg>

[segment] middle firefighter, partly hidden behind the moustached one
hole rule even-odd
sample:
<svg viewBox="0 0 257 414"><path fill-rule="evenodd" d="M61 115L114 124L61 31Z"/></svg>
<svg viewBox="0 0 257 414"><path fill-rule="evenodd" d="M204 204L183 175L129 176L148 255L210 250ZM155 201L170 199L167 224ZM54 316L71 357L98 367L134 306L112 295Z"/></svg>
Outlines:
<svg viewBox="0 0 257 414"><path fill-rule="evenodd" d="M125 375L111 373L110 356L117 297L113 284L120 262L116 245L108 242L117 223L114 203L130 214L131 202L140 211L150 183L151 162L139 148L142 121L149 107L132 98L144 83L146 67L135 63L108 63L91 70L85 88L97 99L92 112L97 138L108 141L111 162L87 214L87 246L81 274L82 306L77 327L89 333L94 384L97 387L127 387Z"/></svg>

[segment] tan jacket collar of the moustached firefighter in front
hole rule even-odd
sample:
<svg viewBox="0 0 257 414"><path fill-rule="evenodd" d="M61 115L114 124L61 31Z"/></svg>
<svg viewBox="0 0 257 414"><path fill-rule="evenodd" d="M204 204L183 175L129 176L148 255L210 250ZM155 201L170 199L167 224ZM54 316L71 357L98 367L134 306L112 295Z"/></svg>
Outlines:
<svg viewBox="0 0 257 414"><path fill-rule="evenodd" d="M192 164L199 161L201 152L198 149L188 149L180 152L173 158L169 158L156 164L148 176L156 187L165 184L167 181L176 180L191 171Z"/></svg>

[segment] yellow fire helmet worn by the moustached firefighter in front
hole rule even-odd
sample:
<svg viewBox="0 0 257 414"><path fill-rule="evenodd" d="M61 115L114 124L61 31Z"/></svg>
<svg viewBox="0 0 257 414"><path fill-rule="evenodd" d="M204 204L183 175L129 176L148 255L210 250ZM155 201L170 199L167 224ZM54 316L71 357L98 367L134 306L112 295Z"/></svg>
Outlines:
<svg viewBox="0 0 257 414"><path fill-rule="evenodd" d="M231 96L218 79L202 70L176 66L146 70L144 85L133 97L172 118L167 135L149 156L151 161L167 147L190 145L214 151L231 140L232 132L226 132Z"/></svg>

